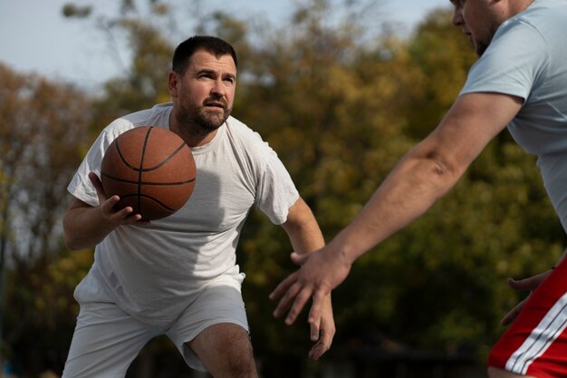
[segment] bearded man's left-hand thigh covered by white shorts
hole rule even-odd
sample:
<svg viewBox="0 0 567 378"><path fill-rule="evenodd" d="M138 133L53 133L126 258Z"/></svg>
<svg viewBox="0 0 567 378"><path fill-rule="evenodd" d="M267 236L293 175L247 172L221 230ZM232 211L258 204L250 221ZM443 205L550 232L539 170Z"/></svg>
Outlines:
<svg viewBox="0 0 567 378"><path fill-rule="evenodd" d="M156 327L144 325L111 303L81 305L62 378L124 377Z"/></svg>

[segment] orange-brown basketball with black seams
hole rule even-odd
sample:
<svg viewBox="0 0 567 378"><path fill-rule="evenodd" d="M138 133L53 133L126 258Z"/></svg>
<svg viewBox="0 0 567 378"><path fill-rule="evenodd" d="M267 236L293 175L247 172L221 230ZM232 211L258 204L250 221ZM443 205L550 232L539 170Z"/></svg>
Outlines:
<svg viewBox="0 0 567 378"><path fill-rule="evenodd" d="M143 220L165 218L187 202L197 169L191 150L178 134L154 126L121 133L104 153L101 182L116 208L130 206Z"/></svg>

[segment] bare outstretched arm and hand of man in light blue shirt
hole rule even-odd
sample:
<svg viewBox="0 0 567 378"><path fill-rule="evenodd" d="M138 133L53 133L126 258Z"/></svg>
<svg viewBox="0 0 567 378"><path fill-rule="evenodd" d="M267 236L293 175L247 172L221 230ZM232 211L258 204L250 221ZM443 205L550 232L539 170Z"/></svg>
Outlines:
<svg viewBox="0 0 567 378"><path fill-rule="evenodd" d="M309 319L318 317L322 298L348 276L352 263L443 197L522 103L497 93L459 97L437 129L399 161L347 228L309 258L293 257L303 266L270 296L281 298L274 315L283 315L291 306L285 322L292 324L312 297Z"/></svg>

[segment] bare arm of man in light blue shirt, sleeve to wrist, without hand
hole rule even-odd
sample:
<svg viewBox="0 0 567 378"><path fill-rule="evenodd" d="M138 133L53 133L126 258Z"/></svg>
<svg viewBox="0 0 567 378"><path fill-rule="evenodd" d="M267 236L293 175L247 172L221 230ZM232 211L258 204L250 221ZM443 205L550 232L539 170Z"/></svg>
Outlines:
<svg viewBox="0 0 567 378"><path fill-rule="evenodd" d="M331 242L343 255L338 257L354 261L425 213L522 104L521 98L499 93L460 96L437 129L399 162L359 216Z"/></svg>

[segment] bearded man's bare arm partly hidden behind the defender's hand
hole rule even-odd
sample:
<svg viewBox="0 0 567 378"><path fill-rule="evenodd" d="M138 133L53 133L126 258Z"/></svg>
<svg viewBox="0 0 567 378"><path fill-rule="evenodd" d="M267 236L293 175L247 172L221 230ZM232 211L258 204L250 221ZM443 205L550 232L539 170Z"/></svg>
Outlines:
<svg viewBox="0 0 567 378"><path fill-rule="evenodd" d="M321 229L312 214L311 208L298 199L290 208L287 220L282 225L292 243L294 253L307 256L310 252L324 246ZM331 294L322 299L322 313L310 320L311 340L313 345L309 356L316 360L322 356L332 344L335 334L332 317Z"/></svg>

